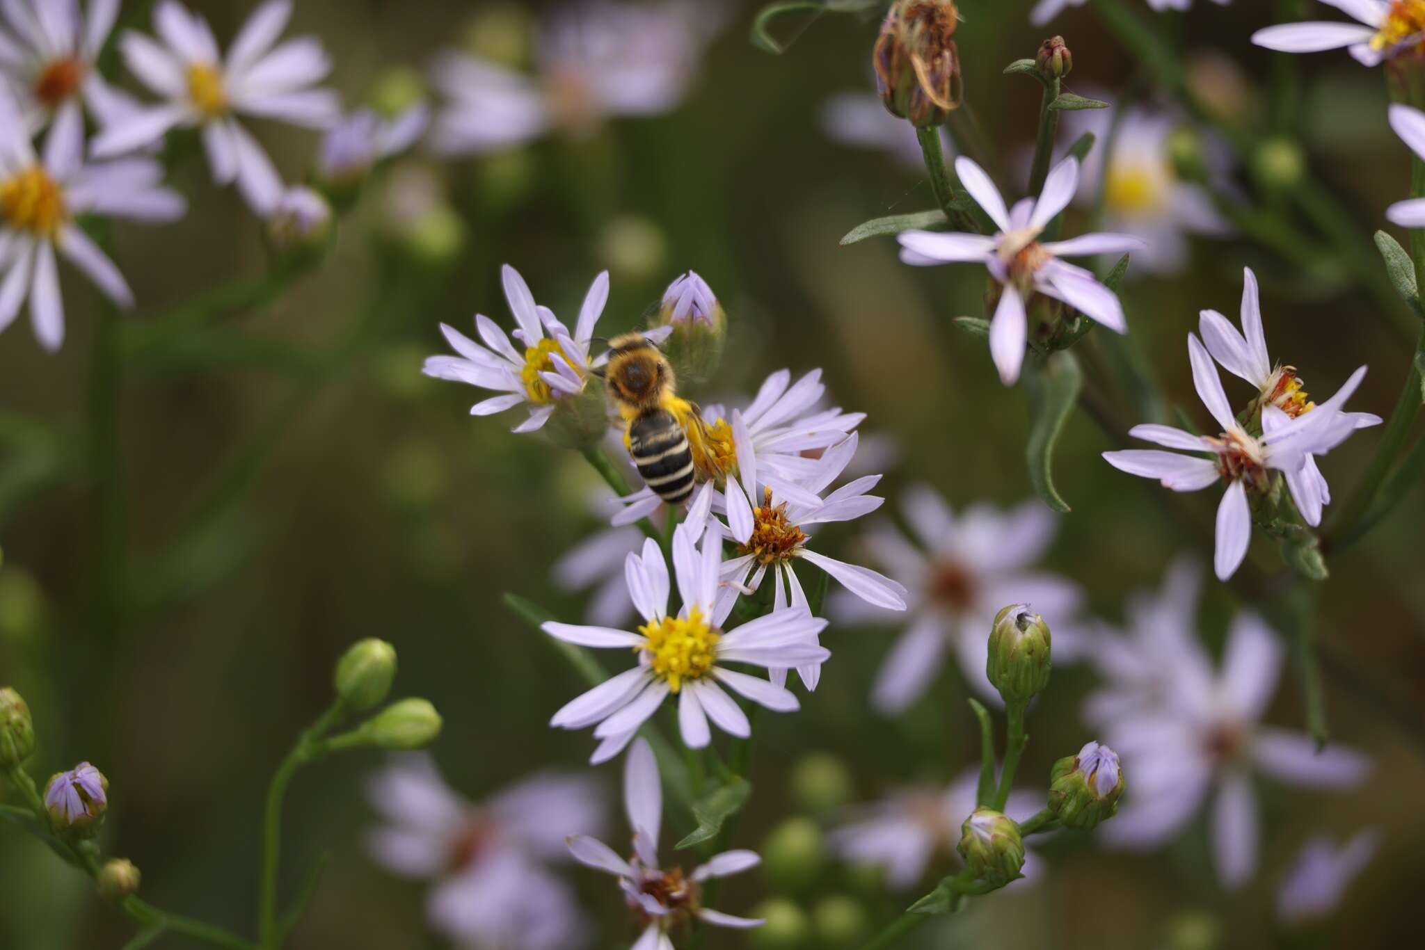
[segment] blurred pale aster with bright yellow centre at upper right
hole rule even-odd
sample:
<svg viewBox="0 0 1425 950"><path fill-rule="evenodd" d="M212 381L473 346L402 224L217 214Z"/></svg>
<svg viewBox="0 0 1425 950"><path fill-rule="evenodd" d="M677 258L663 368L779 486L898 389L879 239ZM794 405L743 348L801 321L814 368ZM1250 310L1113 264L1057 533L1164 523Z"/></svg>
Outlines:
<svg viewBox="0 0 1425 950"><path fill-rule="evenodd" d="M1083 91L1083 90L1080 90ZM1092 93L1112 101L1112 94ZM1117 120L1117 132L1109 131ZM1113 108L1089 108L1064 113L1060 131L1067 141L1092 132L1100 145L1083 161L1077 204L1089 205L1103 194L1103 225L1110 231L1143 239L1133 252L1130 275L1173 275L1188 263L1188 235L1223 236L1231 226L1213 207L1211 198L1194 182L1178 178L1168 154L1168 137L1180 121L1166 111L1141 105L1129 107L1121 117ZM1204 134L1204 151L1216 161L1216 142ZM1112 142L1113 151L1104 150ZM1214 168L1214 171L1217 171ZM1230 188L1226 174L1224 188Z"/></svg>

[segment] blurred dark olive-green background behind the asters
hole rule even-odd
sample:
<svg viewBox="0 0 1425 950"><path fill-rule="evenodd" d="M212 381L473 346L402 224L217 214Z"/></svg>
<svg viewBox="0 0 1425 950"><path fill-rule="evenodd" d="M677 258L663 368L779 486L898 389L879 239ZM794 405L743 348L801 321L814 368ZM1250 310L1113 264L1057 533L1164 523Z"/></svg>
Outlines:
<svg viewBox="0 0 1425 950"><path fill-rule="evenodd" d="M192 6L219 37L231 37L249 7ZM422 67L494 6L304 0L294 31L322 37L333 84L355 103L382 70ZM537 16L540 6L516 9ZM638 325L663 286L694 268L732 319L721 379L700 397L748 392L782 366L821 366L839 404L869 413L864 433L901 446L882 483L892 500L911 481L935 486L956 507L1032 494L1027 399L1002 389L982 342L949 325L950 316L980 315L982 275L906 268L891 239L838 246L862 219L933 204L923 174L834 144L821 130L829 95L869 88L876 19L822 17L774 57L747 41L754 6L734 6L674 114L614 121L589 140L553 138L496 158L432 160L463 219L452 262L412 263L383 245L373 187L318 273L197 339L148 338L128 359L117 402L91 389L101 305L73 272L64 275L61 353L44 355L23 320L0 338L0 407L38 426L3 447L0 681L34 711L37 772L88 759L107 773L105 849L142 869L151 902L249 927L266 781L326 705L336 657L362 637L395 644L398 694L428 696L442 711L436 758L472 798L544 766L583 768L590 738L546 725L583 684L500 595L514 591L566 620L580 617L581 602L556 594L549 568L598 528L586 506L596 481L576 453L512 436L516 414L470 419L473 390L419 375L425 355L446 349L439 322L469 332L479 310L509 325L500 263L519 268L564 319L594 273L611 268L601 335ZM1027 26L1027 0L960 6L968 97L1010 155L1032 141L1039 87L1000 70L1033 56L1045 33ZM1176 28L1184 48L1221 50L1264 88L1270 58L1247 44L1267 21L1263 6L1198 3ZM1052 30L1074 51L1070 90L1120 88L1131 78L1133 61L1092 13L1072 10ZM1381 77L1344 54L1304 67L1312 167L1357 209L1367 241L1384 225L1381 209L1409 184L1406 150L1385 124ZM299 177L316 137L254 125L284 172ZM237 194L211 185L200 154L178 161L172 181L191 198L187 218L115 229L115 259L140 301L124 323L142 326L265 268L259 225ZM1372 301L1321 292L1311 275L1241 241L1197 244L1181 278L1129 283L1133 335L1166 390L1206 417L1191 395L1184 335L1201 308L1235 313L1244 263L1263 281L1273 352L1327 389L1369 363L1355 407L1388 414L1408 348L1372 319ZM366 329L348 338L355 320ZM322 360L346 339L356 342L341 360ZM249 352L259 355L244 357ZM86 434L110 407L121 466L95 471ZM1377 439L1361 434L1324 461L1338 499ZM1074 510L1047 564L1089 591L1094 614L1120 620L1124 594L1156 587L1173 555L1194 546L1200 553L1206 536L1164 514L1157 486L1109 469L1099 459L1109 447L1084 416L1069 423L1057 481ZM1191 499L1204 514L1216 504L1210 494ZM1422 517L1415 491L1367 543L1332 561L1320 598L1321 637L1389 684L1387 698L1416 722L1425 706ZM854 550L851 528L826 537ZM1255 557L1273 565L1275 553L1261 544ZM1208 585L1210 641L1233 607L1223 585ZM738 845L755 847L794 810L787 765L801 753L841 756L859 799L911 779L948 781L973 759L953 669L902 721L871 712L871 675L891 632L834 625L825 638L834 659L804 711L761 718L755 795ZM1381 855L1331 929L1300 946L1334 946L1331 934L1352 947L1412 944L1415 884L1425 873L1425 735L1384 719L1379 689L1354 669L1327 668L1325 678L1332 734L1377 756L1375 778L1355 793L1265 786L1263 870L1251 886L1228 896L1213 883L1200 825L1146 856L1060 836L1045 847L1053 857L1047 880L985 900L953 922L958 939L1096 950L1267 946L1280 937L1270 913L1275 884L1301 842L1322 829L1344 837L1377 825L1385 829ZM1033 788L1053 759L1092 738L1077 718L1092 682L1079 668L1056 674L1032 721L1023 785ZM1302 724L1290 674L1270 721ZM372 755L335 756L304 772L291 792L286 884L318 853L333 856L294 947L442 946L422 936L423 889L375 867L361 847L359 833L375 822L362 781L376 765ZM616 769L601 772L613 788ZM621 829L621 819L614 823ZM623 939L608 882L573 877L610 940ZM849 893L874 914L898 906L836 869L812 890ZM720 903L744 913L771 893L751 873L732 880ZM11 828L0 829L0 947L118 947L131 931L86 880ZM921 946L950 946L926 933ZM1214 934L1217 941L1184 943ZM717 934L714 946L741 940ZM168 944L181 941L160 946Z"/></svg>

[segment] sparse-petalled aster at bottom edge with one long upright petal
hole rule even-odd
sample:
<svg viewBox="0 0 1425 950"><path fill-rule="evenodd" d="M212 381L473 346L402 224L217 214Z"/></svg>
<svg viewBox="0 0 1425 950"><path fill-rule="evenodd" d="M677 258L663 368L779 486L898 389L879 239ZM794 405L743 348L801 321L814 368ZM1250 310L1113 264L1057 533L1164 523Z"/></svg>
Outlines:
<svg viewBox="0 0 1425 950"><path fill-rule="evenodd" d="M750 850L714 855L687 876L683 869L658 867L658 832L663 826L663 786L658 762L648 742L638 739L624 761L624 810L633 830L633 857L624 860L608 845L587 835L571 835L569 850L583 865L618 879L628 910L644 923L631 950L673 950L670 930L684 927L690 917L715 927L760 927L762 920L734 917L701 906L703 884L728 877L761 863Z"/></svg>

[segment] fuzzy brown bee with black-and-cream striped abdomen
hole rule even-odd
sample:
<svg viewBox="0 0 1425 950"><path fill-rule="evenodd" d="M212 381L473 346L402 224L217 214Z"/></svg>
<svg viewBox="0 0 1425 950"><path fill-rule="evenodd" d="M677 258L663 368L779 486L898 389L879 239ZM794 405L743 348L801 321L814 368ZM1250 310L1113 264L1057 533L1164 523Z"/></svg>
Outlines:
<svg viewBox="0 0 1425 950"><path fill-rule="evenodd" d="M698 407L678 397L668 359L641 333L616 336L608 340L604 383L626 423L624 449L638 474L668 504L687 501L694 484L712 474L694 456L707 427ZM697 457L705 459L705 451Z"/></svg>

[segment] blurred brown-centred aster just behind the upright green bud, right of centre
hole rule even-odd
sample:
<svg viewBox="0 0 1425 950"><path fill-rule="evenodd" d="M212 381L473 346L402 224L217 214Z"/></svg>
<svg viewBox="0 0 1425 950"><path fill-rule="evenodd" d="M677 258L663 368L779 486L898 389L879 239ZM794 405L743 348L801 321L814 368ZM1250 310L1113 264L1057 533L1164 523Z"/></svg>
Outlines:
<svg viewBox="0 0 1425 950"><path fill-rule="evenodd" d="M1053 627L1054 662L1073 652L1070 628L1082 591L1056 574L1033 571L1057 521L1042 501L1000 513L975 504L959 516L929 487L913 486L902 504L916 547L889 524L874 526L865 543L875 561L908 588L909 620L876 672L872 705L903 712L939 675L953 651L960 675L980 696L999 701L985 678L989 631L1005 604L1029 602ZM886 622L893 615L834 591L832 608L848 622Z"/></svg>

